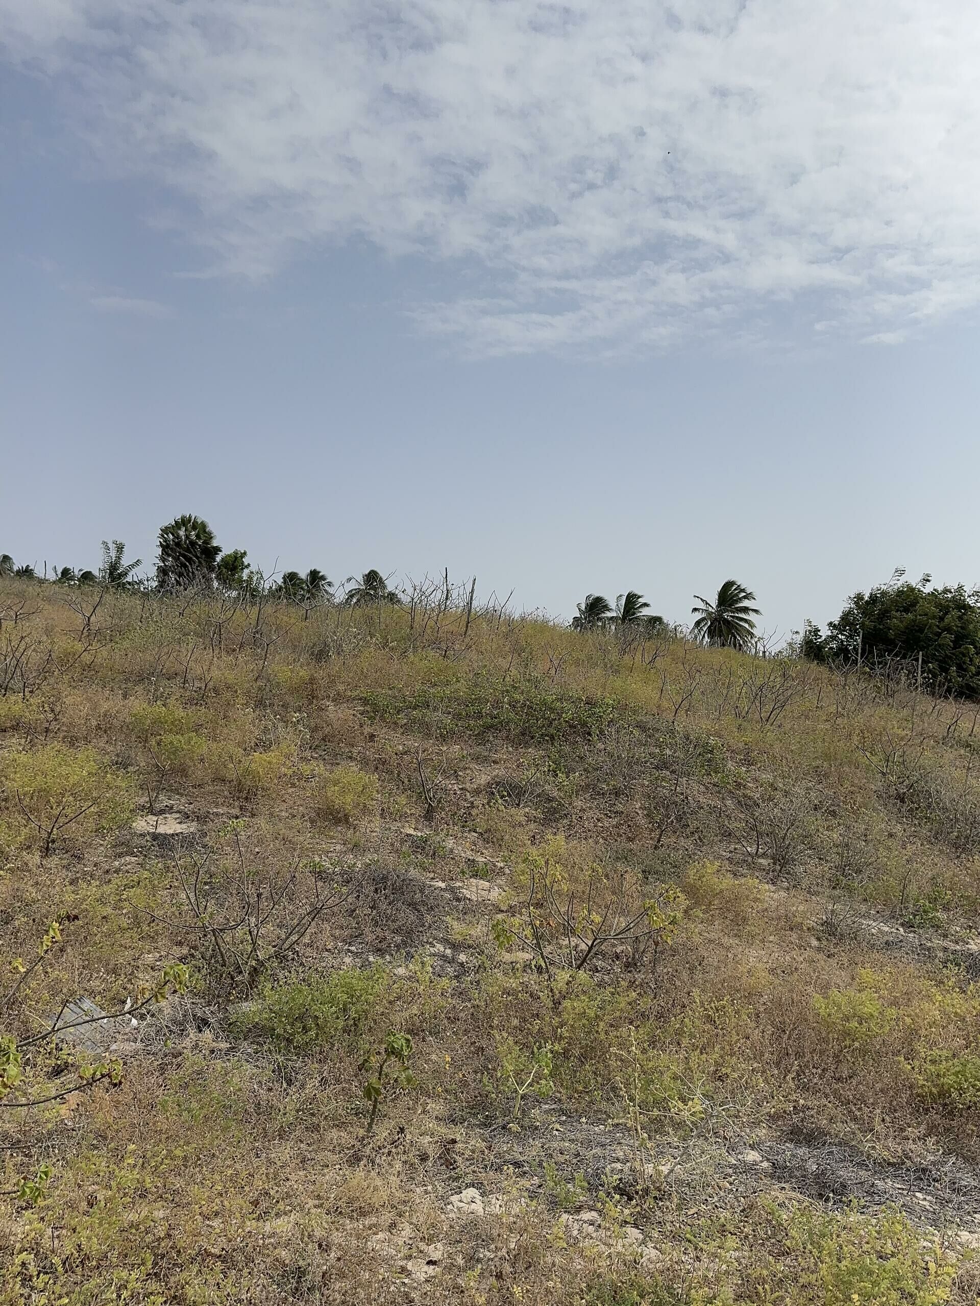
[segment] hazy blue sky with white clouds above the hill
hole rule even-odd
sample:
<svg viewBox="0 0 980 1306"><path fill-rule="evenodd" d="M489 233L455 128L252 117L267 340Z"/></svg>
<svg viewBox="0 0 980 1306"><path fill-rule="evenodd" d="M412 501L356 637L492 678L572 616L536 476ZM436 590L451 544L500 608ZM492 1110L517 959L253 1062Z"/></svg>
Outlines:
<svg viewBox="0 0 980 1306"><path fill-rule="evenodd" d="M973 0L0 0L0 551L980 581Z"/></svg>

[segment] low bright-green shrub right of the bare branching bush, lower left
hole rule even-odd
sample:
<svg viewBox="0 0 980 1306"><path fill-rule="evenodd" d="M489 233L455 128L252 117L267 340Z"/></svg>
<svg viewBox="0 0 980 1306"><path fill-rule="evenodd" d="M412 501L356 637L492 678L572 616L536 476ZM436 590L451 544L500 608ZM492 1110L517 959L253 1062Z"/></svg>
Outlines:
<svg viewBox="0 0 980 1306"><path fill-rule="evenodd" d="M239 1025L281 1051L320 1051L335 1043L359 1045L391 989L383 966L336 970L307 983L267 989Z"/></svg>

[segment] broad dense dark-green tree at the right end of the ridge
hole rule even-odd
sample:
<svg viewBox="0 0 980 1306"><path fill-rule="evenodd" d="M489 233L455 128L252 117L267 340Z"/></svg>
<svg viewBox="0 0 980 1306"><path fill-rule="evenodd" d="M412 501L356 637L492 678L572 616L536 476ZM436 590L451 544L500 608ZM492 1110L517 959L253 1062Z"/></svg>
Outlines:
<svg viewBox="0 0 980 1306"><path fill-rule="evenodd" d="M805 652L819 661L874 665L887 658L919 662L923 682L937 692L980 697L980 589L966 585L932 588L900 573L866 594L852 594L821 640L810 632Z"/></svg>

